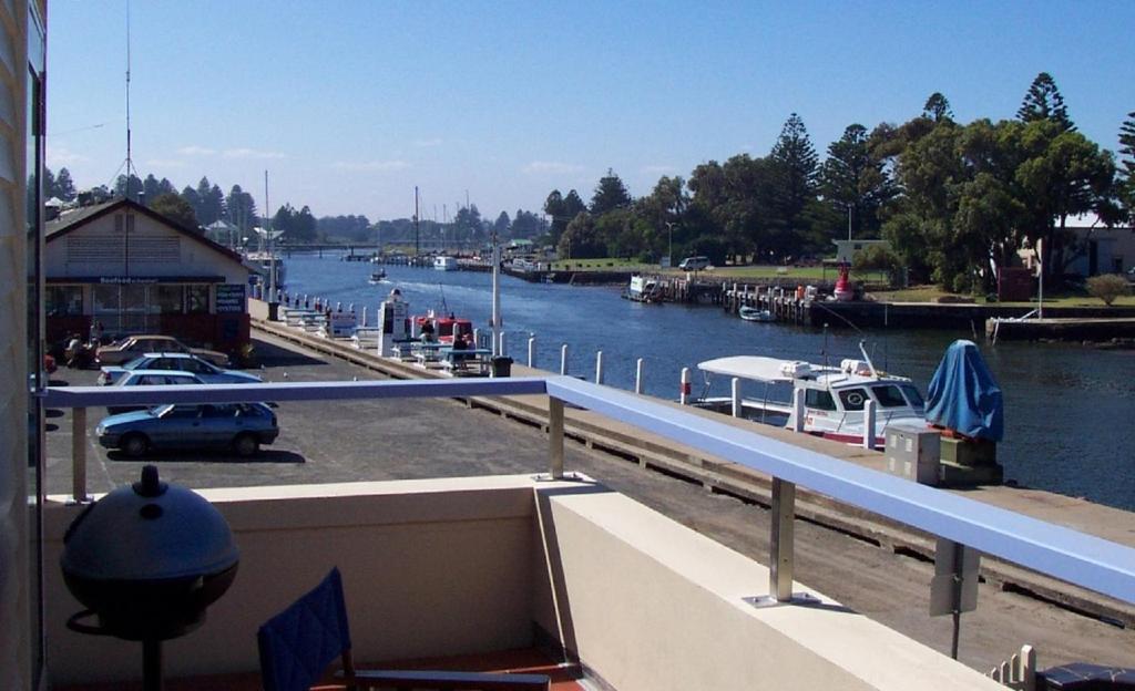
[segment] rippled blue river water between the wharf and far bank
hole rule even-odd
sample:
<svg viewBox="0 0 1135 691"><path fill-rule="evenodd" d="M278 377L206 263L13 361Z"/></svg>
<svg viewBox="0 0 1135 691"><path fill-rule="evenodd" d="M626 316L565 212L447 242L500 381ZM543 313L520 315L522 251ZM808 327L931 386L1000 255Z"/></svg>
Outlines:
<svg viewBox="0 0 1135 691"><path fill-rule="evenodd" d="M387 283L367 283L372 264L339 261L325 253L287 260L293 294L367 305L373 320L378 303L394 287L411 313L429 309L466 317L488 328L491 314L489 273L385 267ZM620 297L616 287L572 287L501 278L502 321L507 353L524 362L529 335L537 339L536 365L558 371L560 347L569 346L570 373L595 376L595 354L603 351L605 382L634 387L634 362L645 360L645 388L653 396L678 397L681 369L725 355L768 355L838 363L858 357L860 336L851 329L799 328L751 323L709 306L645 305ZM924 393L931 376L957 338L949 330L867 331L876 366L914 379ZM1006 478L1093 502L1135 509L1135 352L1098 351L1079 345L977 343L1004 393L1004 440L998 457ZM728 395L728 382L715 393Z"/></svg>

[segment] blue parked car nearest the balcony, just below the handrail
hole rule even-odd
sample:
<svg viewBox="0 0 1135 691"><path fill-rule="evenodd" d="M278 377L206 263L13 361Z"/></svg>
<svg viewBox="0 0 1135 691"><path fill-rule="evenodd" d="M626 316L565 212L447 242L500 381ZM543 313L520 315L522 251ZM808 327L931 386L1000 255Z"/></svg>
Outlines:
<svg viewBox="0 0 1135 691"><path fill-rule="evenodd" d="M96 431L99 444L134 457L150 449L188 448L251 456L279 436L276 414L262 403L162 405L110 415Z"/></svg>

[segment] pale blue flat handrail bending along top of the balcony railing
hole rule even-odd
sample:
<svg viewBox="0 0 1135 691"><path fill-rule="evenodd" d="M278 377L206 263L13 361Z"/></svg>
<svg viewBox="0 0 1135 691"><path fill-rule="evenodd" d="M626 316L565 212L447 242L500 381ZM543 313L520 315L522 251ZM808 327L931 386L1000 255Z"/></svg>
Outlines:
<svg viewBox="0 0 1135 691"><path fill-rule="evenodd" d="M572 377L335 381L154 387L51 387L45 405L347 401L547 394L706 454L1135 604L1135 549L1023 514L860 467Z"/></svg>

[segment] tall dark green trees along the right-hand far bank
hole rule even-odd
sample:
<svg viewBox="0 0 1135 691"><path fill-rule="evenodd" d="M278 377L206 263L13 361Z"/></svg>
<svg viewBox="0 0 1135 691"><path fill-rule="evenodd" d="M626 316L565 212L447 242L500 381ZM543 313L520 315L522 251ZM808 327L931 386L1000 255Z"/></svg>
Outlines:
<svg viewBox="0 0 1135 691"><path fill-rule="evenodd" d="M589 203L548 194L549 241L561 256L656 261L700 254L781 263L832 253L832 241L883 238L875 268L959 292L994 288L998 267L1043 247L1059 279L1084 251L1069 217L1135 220L1135 112L1120 126L1120 165L1077 132L1051 75L1029 85L1015 119L960 124L932 94L902 125L849 125L821 161L792 113L770 153L742 153L663 176L632 199L613 170ZM673 247L673 250L671 250Z"/></svg>

